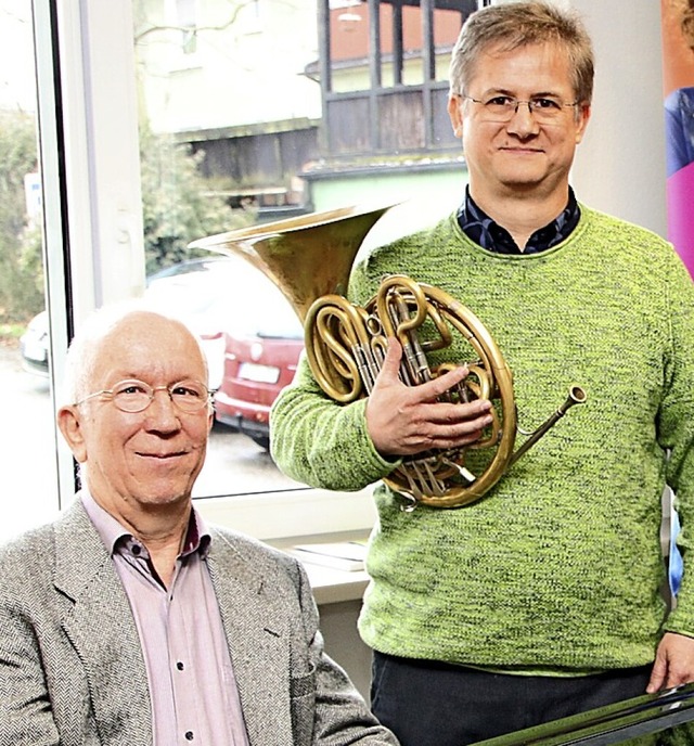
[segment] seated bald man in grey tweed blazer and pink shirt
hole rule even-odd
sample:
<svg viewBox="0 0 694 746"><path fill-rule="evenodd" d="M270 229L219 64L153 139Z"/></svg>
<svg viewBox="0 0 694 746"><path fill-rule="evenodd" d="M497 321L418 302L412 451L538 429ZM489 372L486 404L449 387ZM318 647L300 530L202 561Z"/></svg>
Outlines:
<svg viewBox="0 0 694 746"><path fill-rule="evenodd" d="M0 743L396 745L323 653L300 565L207 527L196 338L99 312L70 345L65 515L0 551Z"/></svg>

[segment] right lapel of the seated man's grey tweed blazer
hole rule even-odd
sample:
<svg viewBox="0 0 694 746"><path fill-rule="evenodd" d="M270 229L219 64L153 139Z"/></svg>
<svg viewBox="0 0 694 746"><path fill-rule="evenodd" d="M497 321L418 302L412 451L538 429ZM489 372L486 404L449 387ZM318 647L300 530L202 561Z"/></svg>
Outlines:
<svg viewBox="0 0 694 746"><path fill-rule="evenodd" d="M290 634L278 602L217 531L208 562L250 744L291 744Z"/></svg>

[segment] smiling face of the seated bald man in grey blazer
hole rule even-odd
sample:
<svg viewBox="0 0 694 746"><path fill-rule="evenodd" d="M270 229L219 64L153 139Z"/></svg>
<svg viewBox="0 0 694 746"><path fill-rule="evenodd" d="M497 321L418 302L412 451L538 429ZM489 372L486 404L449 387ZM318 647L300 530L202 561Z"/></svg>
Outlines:
<svg viewBox="0 0 694 746"><path fill-rule="evenodd" d="M90 393L127 378L153 388L207 381L195 338L179 322L155 313L127 316L97 345L90 357ZM159 389L142 412L121 412L97 396L62 408L59 424L86 467L94 500L132 524L139 513L188 503L205 461L211 410L182 412Z"/></svg>

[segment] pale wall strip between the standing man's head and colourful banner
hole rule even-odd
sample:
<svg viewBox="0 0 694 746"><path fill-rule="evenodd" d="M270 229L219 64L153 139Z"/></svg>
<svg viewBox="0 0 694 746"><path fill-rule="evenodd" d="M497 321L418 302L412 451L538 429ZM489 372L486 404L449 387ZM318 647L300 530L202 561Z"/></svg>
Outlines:
<svg viewBox="0 0 694 746"><path fill-rule="evenodd" d="M667 234L660 3L571 0L595 48L592 119L571 181L592 207Z"/></svg>

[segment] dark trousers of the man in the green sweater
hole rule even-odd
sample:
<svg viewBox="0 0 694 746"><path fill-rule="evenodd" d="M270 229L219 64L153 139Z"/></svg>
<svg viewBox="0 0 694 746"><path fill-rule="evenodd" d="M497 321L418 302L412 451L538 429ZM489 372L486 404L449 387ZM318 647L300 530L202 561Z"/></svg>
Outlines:
<svg viewBox="0 0 694 746"><path fill-rule="evenodd" d="M645 694L651 668L507 676L374 652L371 708L401 746L465 746Z"/></svg>

